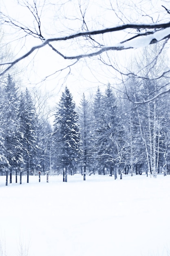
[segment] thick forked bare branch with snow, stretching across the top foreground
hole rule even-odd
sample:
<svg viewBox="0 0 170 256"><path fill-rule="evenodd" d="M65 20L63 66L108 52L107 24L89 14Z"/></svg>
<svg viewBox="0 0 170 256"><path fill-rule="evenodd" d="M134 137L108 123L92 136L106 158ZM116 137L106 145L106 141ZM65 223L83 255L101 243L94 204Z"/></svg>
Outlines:
<svg viewBox="0 0 170 256"><path fill-rule="evenodd" d="M1 13L2 14L2 13ZM79 54L75 56L65 56L64 54L60 53L55 47L53 47L50 43L52 42L58 42L58 41L66 41L71 40L74 38L80 38L80 37L86 37L90 35L99 35L99 34L106 34L110 32L115 31L122 31L126 29L135 29L137 31L137 35L128 38L125 41L122 41L116 45L113 46L104 46L100 47L99 50L87 54ZM140 29L154 29L154 31L146 31L145 33L141 33ZM2 72L0 72L0 76L2 76L5 72L7 72L13 65L21 61L22 59L26 58L30 54L32 54L36 49L40 49L44 47L45 45L49 45L57 54L62 56L64 59L80 59L80 58L86 58L86 57L92 57L99 54L102 54L103 52L107 52L110 50L113 51L120 51L124 49L132 49L132 48L139 48L139 47L145 47L147 45L150 45L152 43L157 43L163 39L169 39L170 38L170 22L168 23L161 23L161 24L125 24L113 28L107 28L102 30L95 30L95 31L85 31L80 32L77 34L72 34L70 36L64 36L64 37L57 37L57 38L49 38L44 39L44 41L37 46L34 46L30 49L29 52L22 55L20 58L17 58L15 61L7 62L7 63L0 63L1 66L9 65L7 68L5 68ZM40 38L42 41L42 38Z"/></svg>

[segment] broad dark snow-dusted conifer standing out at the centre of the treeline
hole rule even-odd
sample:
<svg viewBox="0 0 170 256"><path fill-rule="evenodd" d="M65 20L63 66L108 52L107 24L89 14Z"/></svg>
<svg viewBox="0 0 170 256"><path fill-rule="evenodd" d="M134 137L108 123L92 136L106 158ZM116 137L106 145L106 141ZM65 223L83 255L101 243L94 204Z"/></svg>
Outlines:
<svg viewBox="0 0 170 256"><path fill-rule="evenodd" d="M68 170L74 168L80 154L78 115L75 111L75 102L67 87L62 92L56 109L53 137L56 167L65 169L65 182L67 182Z"/></svg>

